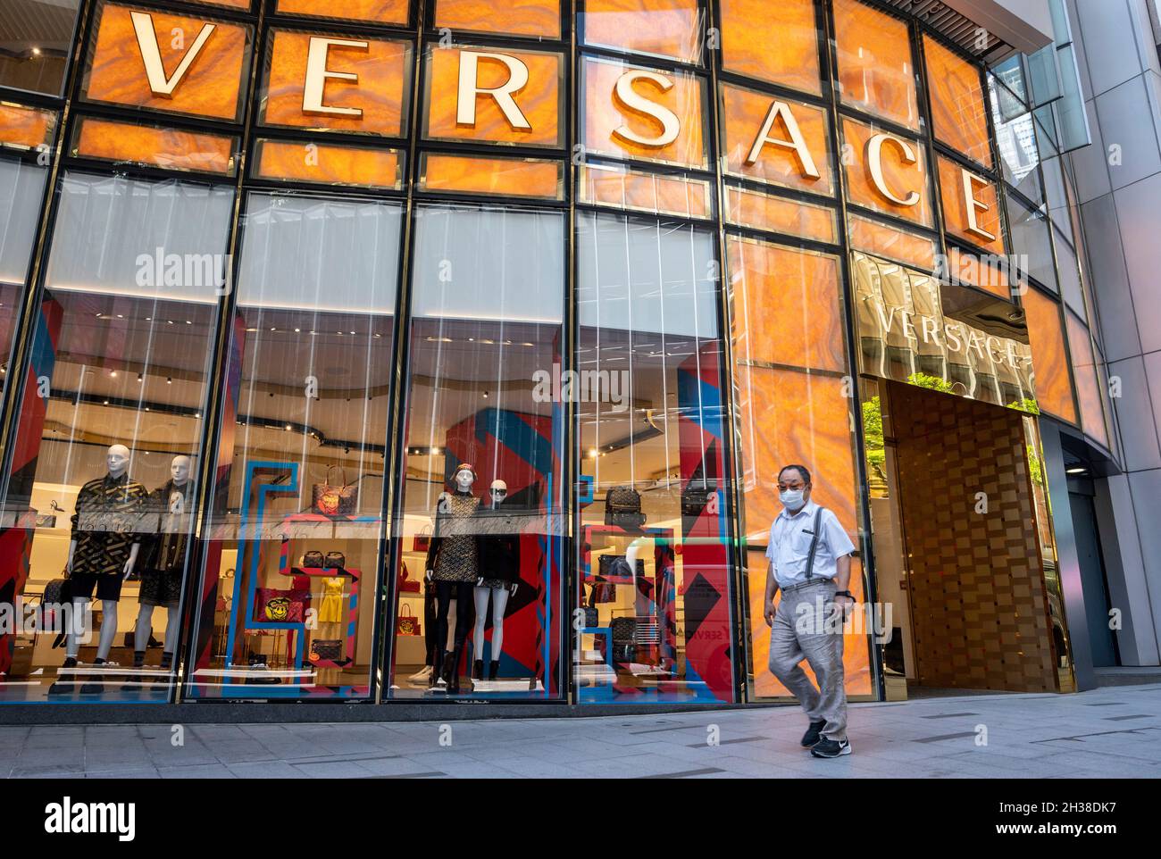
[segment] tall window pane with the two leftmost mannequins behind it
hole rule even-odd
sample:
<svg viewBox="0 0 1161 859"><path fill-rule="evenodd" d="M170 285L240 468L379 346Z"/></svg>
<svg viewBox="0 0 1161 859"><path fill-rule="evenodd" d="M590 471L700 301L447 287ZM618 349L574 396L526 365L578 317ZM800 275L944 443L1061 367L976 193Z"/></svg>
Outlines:
<svg viewBox="0 0 1161 859"><path fill-rule="evenodd" d="M0 641L2 701L168 700L232 200L62 182L0 550L0 594L56 626Z"/></svg>

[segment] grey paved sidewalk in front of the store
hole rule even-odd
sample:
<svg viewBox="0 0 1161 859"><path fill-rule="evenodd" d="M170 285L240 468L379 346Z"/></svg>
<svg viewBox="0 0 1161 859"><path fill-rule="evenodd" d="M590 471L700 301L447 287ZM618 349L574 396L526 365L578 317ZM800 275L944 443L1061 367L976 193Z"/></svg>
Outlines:
<svg viewBox="0 0 1161 859"><path fill-rule="evenodd" d="M1161 684L854 705L854 753L796 708L385 724L0 727L0 775L68 778L1159 778ZM987 744L978 745L982 726Z"/></svg>

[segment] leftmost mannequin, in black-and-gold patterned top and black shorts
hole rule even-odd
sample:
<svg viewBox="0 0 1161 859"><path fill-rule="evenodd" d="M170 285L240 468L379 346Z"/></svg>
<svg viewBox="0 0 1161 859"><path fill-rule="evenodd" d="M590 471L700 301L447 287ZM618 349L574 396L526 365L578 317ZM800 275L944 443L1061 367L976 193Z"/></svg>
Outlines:
<svg viewBox="0 0 1161 859"><path fill-rule="evenodd" d="M77 512L72 517L72 539L65 569L72 590L73 618L65 636L65 661L62 667L77 666L80 651L81 618L93 597L101 600L101 637L95 665L103 665L117 635L117 602L121 585L132 575L140 551L142 518L149 491L129 477L131 454L124 445L113 445L104 454L107 474L89 481L77 493ZM71 691L71 683L57 683L58 692ZM101 684L88 683L82 694L98 693ZM50 690L51 692L52 690Z"/></svg>

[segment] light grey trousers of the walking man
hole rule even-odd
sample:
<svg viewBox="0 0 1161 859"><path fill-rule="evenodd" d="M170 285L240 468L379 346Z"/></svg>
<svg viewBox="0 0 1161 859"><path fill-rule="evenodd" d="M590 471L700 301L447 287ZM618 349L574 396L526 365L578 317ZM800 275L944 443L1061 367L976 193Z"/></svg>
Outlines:
<svg viewBox="0 0 1161 859"><path fill-rule="evenodd" d="M822 736L842 742L846 739L843 630L842 623L825 623L836 611L836 590L834 582L821 579L783 592L770 630L770 671L798 698L812 722L827 722ZM819 688L802 670L803 658Z"/></svg>

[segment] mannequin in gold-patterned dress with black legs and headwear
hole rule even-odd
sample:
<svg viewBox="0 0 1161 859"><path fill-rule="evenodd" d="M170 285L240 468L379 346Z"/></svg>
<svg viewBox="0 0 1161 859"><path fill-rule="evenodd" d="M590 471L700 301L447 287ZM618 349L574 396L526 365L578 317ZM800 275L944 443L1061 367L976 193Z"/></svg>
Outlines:
<svg viewBox="0 0 1161 859"><path fill-rule="evenodd" d="M435 527L425 564L427 580L435 586L435 644L439 648L431 685L440 679L452 694L460 692L460 659L468 640L471 586L479 578L479 557L473 518L479 499L471 495L476 469L460 464L452 475L454 491L442 492L435 507ZM455 607L455 634L449 637L448 614ZM448 642L452 651L448 652Z"/></svg>

